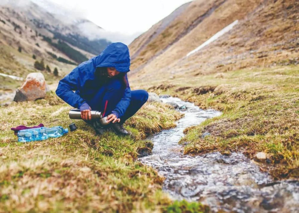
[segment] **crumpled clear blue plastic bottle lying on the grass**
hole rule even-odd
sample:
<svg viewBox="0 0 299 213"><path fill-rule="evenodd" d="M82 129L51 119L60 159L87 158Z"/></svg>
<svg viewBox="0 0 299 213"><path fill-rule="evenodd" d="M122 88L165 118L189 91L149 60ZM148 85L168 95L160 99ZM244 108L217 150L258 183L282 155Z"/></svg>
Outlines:
<svg viewBox="0 0 299 213"><path fill-rule="evenodd" d="M42 141L48 138L58 138L68 133L68 129L62 126L54 126L52 128L40 127L34 129L23 129L18 132L19 142Z"/></svg>

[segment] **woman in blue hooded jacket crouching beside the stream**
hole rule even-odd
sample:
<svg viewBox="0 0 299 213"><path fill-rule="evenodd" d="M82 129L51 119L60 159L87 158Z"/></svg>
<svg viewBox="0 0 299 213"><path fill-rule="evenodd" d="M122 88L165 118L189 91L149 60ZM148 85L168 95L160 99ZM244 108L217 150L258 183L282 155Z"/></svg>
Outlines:
<svg viewBox="0 0 299 213"><path fill-rule="evenodd" d="M128 47L120 42L112 43L103 52L81 63L59 81L56 94L74 108L80 109L81 118L91 124L97 134L113 129L119 135L128 135L124 122L134 115L147 101L145 90L129 87L130 71ZM73 92L75 91L75 92ZM90 110L108 115L107 126L91 120Z"/></svg>

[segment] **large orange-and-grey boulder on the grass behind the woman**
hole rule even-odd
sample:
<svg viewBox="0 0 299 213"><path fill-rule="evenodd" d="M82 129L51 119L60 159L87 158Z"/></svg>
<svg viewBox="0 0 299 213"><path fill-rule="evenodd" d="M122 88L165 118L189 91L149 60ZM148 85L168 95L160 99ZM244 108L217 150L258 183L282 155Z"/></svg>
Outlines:
<svg viewBox="0 0 299 213"><path fill-rule="evenodd" d="M40 72L31 72L27 75L22 87L16 91L14 101L35 101L39 98L45 98L46 81Z"/></svg>

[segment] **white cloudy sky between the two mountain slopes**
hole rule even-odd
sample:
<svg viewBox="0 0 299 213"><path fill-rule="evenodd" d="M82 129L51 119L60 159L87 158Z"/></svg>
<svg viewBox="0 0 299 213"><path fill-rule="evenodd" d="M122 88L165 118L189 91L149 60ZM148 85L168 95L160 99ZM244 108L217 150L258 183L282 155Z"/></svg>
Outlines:
<svg viewBox="0 0 299 213"><path fill-rule="evenodd" d="M132 35L153 24L190 0L48 0L84 16L107 31Z"/></svg>

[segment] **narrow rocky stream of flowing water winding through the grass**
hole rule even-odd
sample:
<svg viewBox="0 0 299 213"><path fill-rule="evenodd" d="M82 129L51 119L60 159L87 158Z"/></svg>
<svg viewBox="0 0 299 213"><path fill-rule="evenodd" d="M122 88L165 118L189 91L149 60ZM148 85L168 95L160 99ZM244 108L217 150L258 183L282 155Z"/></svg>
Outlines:
<svg viewBox="0 0 299 213"><path fill-rule="evenodd" d="M166 179L163 190L176 200L198 200L213 212L299 212L298 181L277 181L241 153L219 152L192 157L183 155L178 144L188 126L221 115L202 110L179 98L161 98L187 106L185 116L173 129L153 135L152 154L139 160L157 169Z"/></svg>

